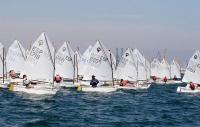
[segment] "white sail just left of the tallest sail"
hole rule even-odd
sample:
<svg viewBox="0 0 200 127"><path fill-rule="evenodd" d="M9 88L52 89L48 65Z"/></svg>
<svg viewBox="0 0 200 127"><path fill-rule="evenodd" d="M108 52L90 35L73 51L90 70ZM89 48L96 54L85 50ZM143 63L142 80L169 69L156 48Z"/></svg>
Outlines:
<svg viewBox="0 0 200 127"><path fill-rule="evenodd" d="M7 71L23 72L26 59L26 53L19 41L15 40L9 47L6 56Z"/></svg>

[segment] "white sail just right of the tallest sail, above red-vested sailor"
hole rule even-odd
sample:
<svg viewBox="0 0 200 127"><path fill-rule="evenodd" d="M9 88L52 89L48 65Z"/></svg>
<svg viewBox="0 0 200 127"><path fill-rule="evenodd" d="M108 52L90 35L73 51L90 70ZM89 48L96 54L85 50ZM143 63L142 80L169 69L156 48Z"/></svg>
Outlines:
<svg viewBox="0 0 200 127"><path fill-rule="evenodd" d="M74 65L73 65L73 51L68 42L60 47L56 53L56 70L55 74L59 74L63 78L73 79L74 76Z"/></svg>

